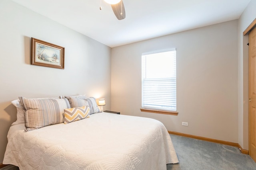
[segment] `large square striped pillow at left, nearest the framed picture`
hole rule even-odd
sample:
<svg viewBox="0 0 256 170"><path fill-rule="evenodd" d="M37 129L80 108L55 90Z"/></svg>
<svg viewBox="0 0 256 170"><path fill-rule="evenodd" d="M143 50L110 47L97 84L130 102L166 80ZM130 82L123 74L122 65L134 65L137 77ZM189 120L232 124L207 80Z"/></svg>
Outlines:
<svg viewBox="0 0 256 170"><path fill-rule="evenodd" d="M19 97L25 110L25 131L64 122L64 109L70 108L67 99L27 99Z"/></svg>

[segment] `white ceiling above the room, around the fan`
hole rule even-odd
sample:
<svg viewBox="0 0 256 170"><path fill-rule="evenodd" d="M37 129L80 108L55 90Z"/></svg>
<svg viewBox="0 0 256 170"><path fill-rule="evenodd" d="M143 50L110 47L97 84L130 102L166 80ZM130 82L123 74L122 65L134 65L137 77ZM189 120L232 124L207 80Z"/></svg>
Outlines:
<svg viewBox="0 0 256 170"><path fill-rule="evenodd" d="M109 47L240 17L250 0L123 0L124 20L101 0L13 0Z"/></svg>

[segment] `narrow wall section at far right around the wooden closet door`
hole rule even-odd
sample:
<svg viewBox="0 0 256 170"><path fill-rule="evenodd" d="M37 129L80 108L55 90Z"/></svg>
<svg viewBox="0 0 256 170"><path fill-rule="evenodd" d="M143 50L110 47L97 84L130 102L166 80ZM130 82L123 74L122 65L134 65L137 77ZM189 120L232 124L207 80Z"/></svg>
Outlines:
<svg viewBox="0 0 256 170"><path fill-rule="evenodd" d="M244 30L256 18L256 0L251 0L238 20L238 143L248 150L248 35Z"/></svg>

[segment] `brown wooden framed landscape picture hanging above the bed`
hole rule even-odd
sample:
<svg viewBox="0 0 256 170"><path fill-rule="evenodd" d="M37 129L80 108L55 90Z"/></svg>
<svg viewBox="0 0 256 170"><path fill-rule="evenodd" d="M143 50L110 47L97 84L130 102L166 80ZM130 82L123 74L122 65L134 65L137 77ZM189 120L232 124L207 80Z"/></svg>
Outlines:
<svg viewBox="0 0 256 170"><path fill-rule="evenodd" d="M31 38L31 64L64 69L64 47Z"/></svg>

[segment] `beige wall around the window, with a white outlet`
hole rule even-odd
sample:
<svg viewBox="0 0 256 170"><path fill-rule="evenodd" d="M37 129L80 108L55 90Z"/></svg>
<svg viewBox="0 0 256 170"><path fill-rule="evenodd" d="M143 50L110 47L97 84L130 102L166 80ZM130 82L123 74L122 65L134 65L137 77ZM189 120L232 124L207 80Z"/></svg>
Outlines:
<svg viewBox="0 0 256 170"><path fill-rule="evenodd" d="M111 109L158 119L169 131L238 143L237 34L233 20L112 48ZM178 116L141 112L141 55L169 48L177 53Z"/></svg>

